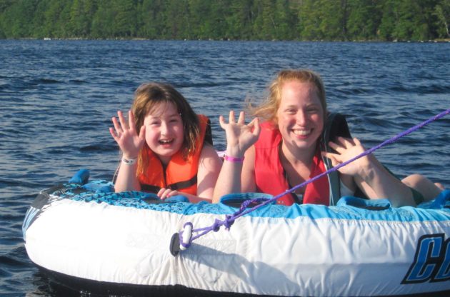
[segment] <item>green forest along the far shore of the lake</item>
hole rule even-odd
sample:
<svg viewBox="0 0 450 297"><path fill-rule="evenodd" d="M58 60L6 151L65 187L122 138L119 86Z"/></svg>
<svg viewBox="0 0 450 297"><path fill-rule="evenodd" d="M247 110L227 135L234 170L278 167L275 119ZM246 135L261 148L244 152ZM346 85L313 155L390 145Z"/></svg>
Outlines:
<svg viewBox="0 0 450 297"><path fill-rule="evenodd" d="M429 41L450 0L0 0L0 39Z"/></svg>

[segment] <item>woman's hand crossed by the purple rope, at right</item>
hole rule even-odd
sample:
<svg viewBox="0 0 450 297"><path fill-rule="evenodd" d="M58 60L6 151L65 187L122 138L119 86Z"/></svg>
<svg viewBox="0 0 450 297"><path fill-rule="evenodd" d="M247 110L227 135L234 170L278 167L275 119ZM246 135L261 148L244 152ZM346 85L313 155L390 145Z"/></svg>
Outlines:
<svg viewBox="0 0 450 297"><path fill-rule="evenodd" d="M331 159L331 163L333 163L333 166L337 166L340 163L349 161L351 158L354 158L366 151L361 142L356 138L346 139L344 137L338 137L337 142L334 143L333 141L330 141L329 146L333 148L337 153L329 153L323 151L321 154L322 156ZM371 166L371 158L373 158L372 155L364 156L347 164L346 166L339 168L338 171L350 176L361 175L361 171L364 171L365 168Z"/></svg>

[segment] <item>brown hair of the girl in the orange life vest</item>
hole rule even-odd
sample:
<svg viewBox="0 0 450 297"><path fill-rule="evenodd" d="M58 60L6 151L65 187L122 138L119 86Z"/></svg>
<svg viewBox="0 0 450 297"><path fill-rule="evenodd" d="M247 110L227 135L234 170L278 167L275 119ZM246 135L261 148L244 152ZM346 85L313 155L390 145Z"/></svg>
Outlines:
<svg viewBox="0 0 450 297"><path fill-rule="evenodd" d="M134 92L134 102L131 111L134 114L134 124L137 133L144 125L144 118L160 104L174 104L183 122L184 140L181 150L184 158L187 158L196 150L196 139L199 138L199 119L188 101L179 91L176 91L170 84L146 83L141 84ZM144 147L139 152L137 174L144 173L149 163L147 160L149 146L144 143Z"/></svg>

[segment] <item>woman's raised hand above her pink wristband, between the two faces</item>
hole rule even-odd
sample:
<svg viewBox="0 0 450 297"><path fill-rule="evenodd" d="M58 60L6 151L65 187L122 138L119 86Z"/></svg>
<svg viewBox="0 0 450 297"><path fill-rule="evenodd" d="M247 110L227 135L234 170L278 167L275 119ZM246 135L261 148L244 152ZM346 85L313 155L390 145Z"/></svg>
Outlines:
<svg viewBox="0 0 450 297"><path fill-rule="evenodd" d="M230 111L229 123L226 124L223 116L219 117L219 123L226 133L226 153L236 158L244 156L245 151L258 140L261 132L258 118L253 119L248 125L245 124L244 111L239 113L237 122L234 111Z"/></svg>

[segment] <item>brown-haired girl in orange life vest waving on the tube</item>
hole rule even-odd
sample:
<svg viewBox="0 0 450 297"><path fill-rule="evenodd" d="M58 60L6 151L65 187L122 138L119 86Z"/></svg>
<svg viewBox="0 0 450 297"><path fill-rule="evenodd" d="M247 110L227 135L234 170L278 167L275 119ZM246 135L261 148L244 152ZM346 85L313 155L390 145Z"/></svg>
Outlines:
<svg viewBox="0 0 450 297"><path fill-rule="evenodd" d="M211 201L221 160L206 116L197 116L169 84L136 89L128 121L121 111L109 132L123 153L115 191L149 191L161 199L183 194Z"/></svg>

